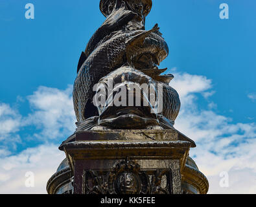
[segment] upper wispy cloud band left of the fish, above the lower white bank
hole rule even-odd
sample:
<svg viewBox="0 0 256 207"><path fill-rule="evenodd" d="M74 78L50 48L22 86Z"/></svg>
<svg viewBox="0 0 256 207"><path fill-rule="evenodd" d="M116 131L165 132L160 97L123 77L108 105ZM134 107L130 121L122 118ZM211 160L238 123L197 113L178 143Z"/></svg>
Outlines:
<svg viewBox="0 0 256 207"><path fill-rule="evenodd" d="M64 140L75 131L72 87L65 90L39 87L27 97L31 112L21 116L17 109L0 103L0 149L16 149L28 140ZM33 129L31 130L31 127ZM27 133L27 129L30 133ZM20 132L26 135L20 135Z"/></svg>

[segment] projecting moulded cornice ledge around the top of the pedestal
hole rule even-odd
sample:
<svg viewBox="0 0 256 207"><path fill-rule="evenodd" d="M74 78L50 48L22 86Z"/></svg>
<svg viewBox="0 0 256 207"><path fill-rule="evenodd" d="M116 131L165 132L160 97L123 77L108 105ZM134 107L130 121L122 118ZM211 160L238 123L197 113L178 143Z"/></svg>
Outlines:
<svg viewBox="0 0 256 207"><path fill-rule="evenodd" d="M135 159L148 157L151 159L180 159L191 147L187 141L80 141L65 144L64 151L75 159L126 158Z"/></svg>

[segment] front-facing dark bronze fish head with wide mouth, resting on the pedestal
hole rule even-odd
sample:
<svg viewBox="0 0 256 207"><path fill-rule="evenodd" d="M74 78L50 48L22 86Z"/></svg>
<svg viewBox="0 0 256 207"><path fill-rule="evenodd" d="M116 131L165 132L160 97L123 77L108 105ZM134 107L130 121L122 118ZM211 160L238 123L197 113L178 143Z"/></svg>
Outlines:
<svg viewBox="0 0 256 207"><path fill-rule="evenodd" d="M160 125L163 129L173 128L181 103L177 91L170 85L158 82L130 65L124 65L104 76L99 82L99 91L102 90L102 86L110 88L109 84L115 87L113 93L108 94L106 103L98 107L100 125L111 129L146 129L152 125ZM149 89L150 85L152 85L151 89ZM121 88L124 88L126 97L123 97L124 104L117 106L115 104L119 98L117 91ZM138 91L139 93L136 93ZM149 94L154 94L156 105L155 102L150 101ZM130 97L132 97L131 105L129 105Z"/></svg>

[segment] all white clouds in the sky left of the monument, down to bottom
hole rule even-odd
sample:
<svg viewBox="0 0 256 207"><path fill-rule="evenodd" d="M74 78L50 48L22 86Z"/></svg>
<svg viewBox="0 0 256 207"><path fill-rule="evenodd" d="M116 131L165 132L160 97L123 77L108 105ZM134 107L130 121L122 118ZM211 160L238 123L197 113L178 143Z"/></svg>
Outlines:
<svg viewBox="0 0 256 207"><path fill-rule="evenodd" d="M62 142L75 131L71 86L64 91L39 87L28 100L31 113L25 117L10 105L0 104L0 193L47 193L47 180L65 158L58 145L47 143L52 139ZM20 137L19 131L31 126L37 128L36 133ZM45 144L13 155L17 143L30 146L31 139ZM34 173L34 188L25 187L27 171Z"/></svg>

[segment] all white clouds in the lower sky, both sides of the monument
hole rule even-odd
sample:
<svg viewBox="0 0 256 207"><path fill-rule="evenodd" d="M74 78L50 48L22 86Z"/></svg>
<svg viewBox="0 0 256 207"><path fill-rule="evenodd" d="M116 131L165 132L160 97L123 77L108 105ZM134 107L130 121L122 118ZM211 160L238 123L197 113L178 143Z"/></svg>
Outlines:
<svg viewBox="0 0 256 207"><path fill-rule="evenodd" d="M216 103L209 100L213 94L212 81L206 77L178 72L175 76L171 85L181 98L175 127L196 142L191 156L209 179L209 193L256 193L256 124L233 123L231 118L216 113ZM208 109L198 105L198 94L207 99ZM35 125L37 131L31 137L46 143L54 138L65 140L73 133L76 120L71 86L64 91L40 87L28 100L32 111L23 118L9 105L1 104L0 123L5 120L15 123L8 124L5 133L2 132L4 136L19 137L23 125ZM10 155L8 147L0 148L0 193L46 193L47 180L63 158L58 146L49 144L26 149L18 155ZM35 174L35 188L25 187L27 171ZM229 173L229 188L219 185L222 171Z"/></svg>

